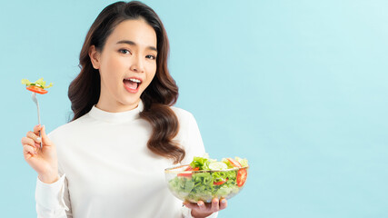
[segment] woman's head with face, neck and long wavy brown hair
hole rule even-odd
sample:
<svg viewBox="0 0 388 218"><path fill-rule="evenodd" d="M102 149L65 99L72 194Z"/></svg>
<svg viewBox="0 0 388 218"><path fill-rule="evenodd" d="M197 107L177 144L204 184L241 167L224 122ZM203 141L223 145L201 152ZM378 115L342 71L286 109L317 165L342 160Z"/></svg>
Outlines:
<svg viewBox="0 0 388 218"><path fill-rule="evenodd" d="M151 8L140 11L140 5L130 4L126 11L106 7L86 35L80 55L83 69L69 86L73 120L95 104L114 113L134 109L142 100L141 116L154 128L148 147L177 163L183 160L184 149L171 142L178 121L168 105L176 102L178 87L167 68L168 38Z"/></svg>

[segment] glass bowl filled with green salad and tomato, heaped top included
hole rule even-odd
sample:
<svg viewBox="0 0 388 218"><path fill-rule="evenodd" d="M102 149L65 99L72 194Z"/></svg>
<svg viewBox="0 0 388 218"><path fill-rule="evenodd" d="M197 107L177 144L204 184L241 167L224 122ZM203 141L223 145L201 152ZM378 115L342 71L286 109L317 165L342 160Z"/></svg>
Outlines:
<svg viewBox="0 0 388 218"><path fill-rule="evenodd" d="M239 157L223 158L221 162L194 157L190 164L167 168L165 179L170 191L182 201L212 202L213 198L229 199L239 193L248 175L248 161Z"/></svg>

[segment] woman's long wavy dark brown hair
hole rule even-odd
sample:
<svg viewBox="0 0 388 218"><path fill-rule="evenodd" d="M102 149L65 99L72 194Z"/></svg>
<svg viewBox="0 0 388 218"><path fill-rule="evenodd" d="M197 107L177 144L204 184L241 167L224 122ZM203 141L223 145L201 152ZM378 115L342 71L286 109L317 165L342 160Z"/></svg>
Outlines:
<svg viewBox="0 0 388 218"><path fill-rule="evenodd" d="M147 146L154 154L180 163L185 153L184 149L173 141L178 133L179 123L169 106L176 103L178 86L167 68L168 38L159 16L152 8L141 2L116 2L108 5L90 27L79 57L81 72L69 86L68 96L74 113L71 121L87 114L100 97L100 74L91 63L88 54L90 46L95 45L96 50L101 52L106 38L112 34L114 27L125 20L134 19L144 19L154 28L157 38L156 73L151 84L140 96L144 103L140 117L153 127L153 134Z"/></svg>

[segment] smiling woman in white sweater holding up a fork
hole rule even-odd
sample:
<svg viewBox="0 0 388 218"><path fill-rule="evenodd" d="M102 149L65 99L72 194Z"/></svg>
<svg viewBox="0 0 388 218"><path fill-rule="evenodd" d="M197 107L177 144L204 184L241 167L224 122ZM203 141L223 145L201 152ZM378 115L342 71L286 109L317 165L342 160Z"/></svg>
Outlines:
<svg viewBox="0 0 388 218"><path fill-rule="evenodd" d="M194 116L172 106L168 50L147 5L117 2L97 16L69 86L73 120L22 139L38 173L38 217L216 217L226 207L216 198L183 206L164 181L164 168L204 154Z"/></svg>

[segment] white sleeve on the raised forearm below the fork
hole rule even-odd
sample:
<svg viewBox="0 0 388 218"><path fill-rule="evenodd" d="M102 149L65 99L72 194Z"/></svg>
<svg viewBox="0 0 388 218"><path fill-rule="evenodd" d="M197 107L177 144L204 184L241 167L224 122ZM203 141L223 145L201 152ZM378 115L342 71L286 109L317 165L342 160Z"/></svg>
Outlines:
<svg viewBox="0 0 388 218"><path fill-rule="evenodd" d="M71 211L65 204L65 183L63 174L55 183L43 183L36 179L35 201L38 218L71 218ZM66 211L70 212L66 215Z"/></svg>

